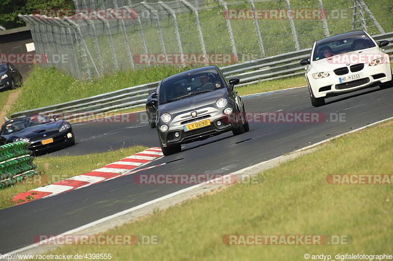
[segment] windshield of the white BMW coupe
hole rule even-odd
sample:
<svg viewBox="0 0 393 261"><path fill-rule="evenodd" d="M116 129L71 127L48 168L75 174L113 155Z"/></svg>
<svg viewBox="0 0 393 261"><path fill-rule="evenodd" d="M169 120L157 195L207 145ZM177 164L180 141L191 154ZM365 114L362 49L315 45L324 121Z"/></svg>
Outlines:
<svg viewBox="0 0 393 261"><path fill-rule="evenodd" d="M313 61L318 61L338 54L375 47L364 32L342 34L316 42Z"/></svg>

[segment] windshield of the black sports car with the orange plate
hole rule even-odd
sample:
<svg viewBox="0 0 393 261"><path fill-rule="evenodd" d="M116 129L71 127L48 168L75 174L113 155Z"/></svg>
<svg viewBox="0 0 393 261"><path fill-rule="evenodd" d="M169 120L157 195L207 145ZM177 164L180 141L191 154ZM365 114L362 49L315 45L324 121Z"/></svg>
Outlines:
<svg viewBox="0 0 393 261"><path fill-rule="evenodd" d="M45 115L32 115L22 119L12 119L6 122L1 129L1 135L8 135L18 132L20 130L34 127L39 124L50 122L51 120Z"/></svg>

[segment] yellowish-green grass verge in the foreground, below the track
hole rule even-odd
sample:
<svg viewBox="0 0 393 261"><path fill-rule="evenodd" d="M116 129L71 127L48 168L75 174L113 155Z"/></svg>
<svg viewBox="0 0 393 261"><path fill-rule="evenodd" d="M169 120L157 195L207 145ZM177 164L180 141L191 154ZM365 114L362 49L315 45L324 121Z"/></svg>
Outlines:
<svg viewBox="0 0 393 261"><path fill-rule="evenodd" d="M105 232L159 235L162 244L67 246L52 254L111 253L112 260L305 260L304 254L383 254L393 224L392 185L330 185L329 174L392 174L393 121L234 185ZM349 245L229 246L225 235L350 235Z"/></svg>

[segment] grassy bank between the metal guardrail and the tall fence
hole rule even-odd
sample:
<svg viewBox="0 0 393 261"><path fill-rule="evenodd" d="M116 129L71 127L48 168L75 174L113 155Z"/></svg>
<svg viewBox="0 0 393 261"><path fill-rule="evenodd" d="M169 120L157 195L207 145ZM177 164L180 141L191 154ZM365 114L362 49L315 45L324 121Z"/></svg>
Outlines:
<svg viewBox="0 0 393 261"><path fill-rule="evenodd" d="M48 70L35 66L23 84L21 95L7 114L11 115L15 112L160 81L170 75L189 69L188 67L157 66L136 71L118 71L88 82L76 80L55 68Z"/></svg>

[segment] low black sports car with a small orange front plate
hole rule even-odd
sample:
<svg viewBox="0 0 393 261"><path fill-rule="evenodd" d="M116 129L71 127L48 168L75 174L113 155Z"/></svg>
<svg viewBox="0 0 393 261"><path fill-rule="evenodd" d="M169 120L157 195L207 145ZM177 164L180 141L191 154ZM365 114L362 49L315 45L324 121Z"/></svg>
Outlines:
<svg viewBox="0 0 393 261"><path fill-rule="evenodd" d="M50 120L43 114L7 120L0 131L0 142L30 142L35 154L75 144L71 124L65 120Z"/></svg>

